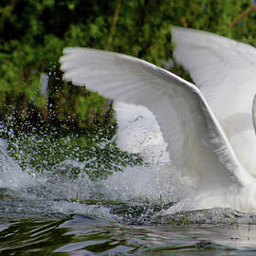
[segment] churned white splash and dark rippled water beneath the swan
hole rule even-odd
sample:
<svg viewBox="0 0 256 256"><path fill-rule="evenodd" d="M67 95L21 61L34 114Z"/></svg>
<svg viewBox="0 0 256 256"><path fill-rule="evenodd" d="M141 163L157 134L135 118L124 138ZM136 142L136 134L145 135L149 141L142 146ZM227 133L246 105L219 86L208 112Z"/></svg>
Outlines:
<svg viewBox="0 0 256 256"><path fill-rule="evenodd" d="M119 133L125 136L125 129ZM161 138L143 144L138 137L146 163L128 165L103 179L73 172L81 166L93 171L97 155L87 167L88 159L68 154L51 165L54 155L43 148L46 155L36 158L33 169L26 147L42 154L37 139L11 147L0 140L0 255L255 255L256 215L230 208L196 209L207 206L207 198L210 205L211 197L200 200L192 179L181 175L165 154ZM46 143L40 141L48 147ZM130 141L129 146L137 148ZM100 145L102 150L110 147L107 141ZM104 157L109 161L105 168L111 169L113 159ZM40 165L40 159L46 164ZM195 209L184 210L184 205Z"/></svg>

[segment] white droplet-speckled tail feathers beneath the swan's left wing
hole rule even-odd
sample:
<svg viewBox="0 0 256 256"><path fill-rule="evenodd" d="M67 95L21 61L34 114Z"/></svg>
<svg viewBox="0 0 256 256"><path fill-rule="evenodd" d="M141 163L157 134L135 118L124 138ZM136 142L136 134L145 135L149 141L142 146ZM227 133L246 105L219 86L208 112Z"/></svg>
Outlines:
<svg viewBox="0 0 256 256"><path fill-rule="evenodd" d="M154 165L170 162L167 144L155 116L144 106L116 101L119 149L137 153Z"/></svg>

